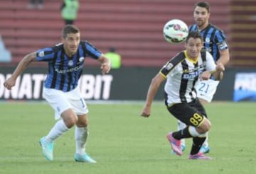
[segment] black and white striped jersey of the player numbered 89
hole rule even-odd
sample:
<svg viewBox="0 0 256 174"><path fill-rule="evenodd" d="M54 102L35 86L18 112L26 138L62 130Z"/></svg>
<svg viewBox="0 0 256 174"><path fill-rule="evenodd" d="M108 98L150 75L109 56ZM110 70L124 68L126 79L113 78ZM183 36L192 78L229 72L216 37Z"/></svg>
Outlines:
<svg viewBox="0 0 256 174"><path fill-rule="evenodd" d="M215 62L209 52L201 52L196 61L186 51L179 52L167 62L160 74L166 78L164 91L168 105L189 103L196 98L196 83L203 71L215 71Z"/></svg>

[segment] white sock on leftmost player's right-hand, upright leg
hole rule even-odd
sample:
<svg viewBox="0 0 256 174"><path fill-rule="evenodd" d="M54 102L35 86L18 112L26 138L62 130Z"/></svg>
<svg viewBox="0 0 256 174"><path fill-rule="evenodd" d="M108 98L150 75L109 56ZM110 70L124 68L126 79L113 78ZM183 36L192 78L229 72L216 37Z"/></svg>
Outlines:
<svg viewBox="0 0 256 174"><path fill-rule="evenodd" d="M87 140L87 127L75 126L75 153L82 155L85 153L85 144Z"/></svg>

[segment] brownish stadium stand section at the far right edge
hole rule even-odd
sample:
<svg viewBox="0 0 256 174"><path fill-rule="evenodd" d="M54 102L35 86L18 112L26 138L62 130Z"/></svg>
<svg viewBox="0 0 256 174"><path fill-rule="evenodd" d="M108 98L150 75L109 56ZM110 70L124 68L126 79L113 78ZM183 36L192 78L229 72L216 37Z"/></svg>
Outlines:
<svg viewBox="0 0 256 174"><path fill-rule="evenodd" d="M230 65L256 67L256 1L231 1L230 16Z"/></svg>

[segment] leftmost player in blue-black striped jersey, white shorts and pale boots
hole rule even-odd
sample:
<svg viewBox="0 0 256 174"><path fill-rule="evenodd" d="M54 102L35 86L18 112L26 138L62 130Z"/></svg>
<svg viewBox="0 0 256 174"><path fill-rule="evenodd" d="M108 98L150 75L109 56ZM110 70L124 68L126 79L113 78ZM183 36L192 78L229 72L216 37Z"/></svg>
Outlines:
<svg viewBox="0 0 256 174"><path fill-rule="evenodd" d="M101 63L102 74L110 71L110 62L89 42L80 40L80 30L75 25L65 25L61 40L62 43L54 47L46 47L23 57L4 86L11 90L18 76L31 62L48 62L43 98L55 110L55 119L58 121L46 137L39 141L43 155L53 161L53 141L75 126L75 161L96 163L85 153L88 108L80 95L78 80L85 57L97 59Z"/></svg>

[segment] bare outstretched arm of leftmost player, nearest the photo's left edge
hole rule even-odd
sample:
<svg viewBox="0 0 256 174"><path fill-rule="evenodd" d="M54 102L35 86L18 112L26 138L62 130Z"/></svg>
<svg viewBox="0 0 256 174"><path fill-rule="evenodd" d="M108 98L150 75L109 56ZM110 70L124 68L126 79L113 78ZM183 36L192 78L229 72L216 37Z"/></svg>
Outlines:
<svg viewBox="0 0 256 174"><path fill-rule="evenodd" d="M27 54L25 57L23 57L23 59L21 59L21 62L18 63L18 66L16 67L11 77L4 82L4 87L11 90L11 88L15 86L16 79L18 78L18 76L21 75L21 73L33 61L36 61L36 52L31 52L30 54Z"/></svg>

